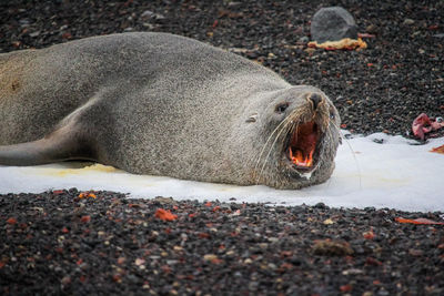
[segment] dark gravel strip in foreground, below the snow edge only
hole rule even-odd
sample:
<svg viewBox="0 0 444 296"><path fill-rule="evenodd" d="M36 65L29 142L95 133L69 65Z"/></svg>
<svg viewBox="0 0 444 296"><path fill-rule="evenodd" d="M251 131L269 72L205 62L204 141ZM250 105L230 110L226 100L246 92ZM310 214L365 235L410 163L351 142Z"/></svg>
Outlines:
<svg viewBox="0 0 444 296"><path fill-rule="evenodd" d="M440 213L93 194L0 195L0 293L444 294Z"/></svg>

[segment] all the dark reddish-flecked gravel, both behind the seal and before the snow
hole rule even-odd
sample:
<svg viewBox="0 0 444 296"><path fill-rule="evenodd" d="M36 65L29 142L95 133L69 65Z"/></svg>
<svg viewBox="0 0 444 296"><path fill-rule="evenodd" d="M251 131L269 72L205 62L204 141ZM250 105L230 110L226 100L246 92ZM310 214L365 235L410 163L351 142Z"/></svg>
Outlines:
<svg viewBox="0 0 444 296"><path fill-rule="evenodd" d="M339 3L369 48L307 49L312 16ZM444 116L443 1L0 2L0 52L124 31L195 38L316 85L356 133ZM442 213L79 194L0 195L0 294L444 294L444 226L395 221Z"/></svg>

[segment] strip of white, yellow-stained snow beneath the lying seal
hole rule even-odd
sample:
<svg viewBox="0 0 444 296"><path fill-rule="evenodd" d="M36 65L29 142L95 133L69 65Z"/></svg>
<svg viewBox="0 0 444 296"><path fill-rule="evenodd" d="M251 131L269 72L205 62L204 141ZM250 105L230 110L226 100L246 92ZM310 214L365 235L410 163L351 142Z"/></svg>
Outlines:
<svg viewBox="0 0 444 296"><path fill-rule="evenodd" d="M382 144L373 140L383 140ZM172 196L175 200L219 200L300 205L323 202L335 207L374 206L404 211L444 211L444 155L425 145L412 145L402 136L376 133L355 136L340 146L336 169L324 184L278 191L266 186L233 186L132 175L91 163L58 163L39 166L0 166L0 194L78 187L130 193L132 197Z"/></svg>

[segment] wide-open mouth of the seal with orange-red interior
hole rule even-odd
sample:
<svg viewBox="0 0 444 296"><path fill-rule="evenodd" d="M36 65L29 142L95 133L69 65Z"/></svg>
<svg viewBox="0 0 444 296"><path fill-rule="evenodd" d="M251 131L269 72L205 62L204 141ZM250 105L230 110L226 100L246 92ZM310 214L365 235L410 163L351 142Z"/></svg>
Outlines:
<svg viewBox="0 0 444 296"><path fill-rule="evenodd" d="M315 165L319 127L314 121L300 123L290 135L286 156L293 169L310 172Z"/></svg>

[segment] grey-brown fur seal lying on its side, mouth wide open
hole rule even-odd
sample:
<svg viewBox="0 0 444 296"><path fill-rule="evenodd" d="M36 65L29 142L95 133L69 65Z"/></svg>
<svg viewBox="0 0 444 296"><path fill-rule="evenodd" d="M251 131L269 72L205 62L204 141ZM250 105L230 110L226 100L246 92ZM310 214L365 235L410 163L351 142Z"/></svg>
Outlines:
<svg viewBox="0 0 444 296"><path fill-rule="evenodd" d="M0 164L91 160L135 174L300 188L334 169L329 98L236 54L122 33L0 54Z"/></svg>

